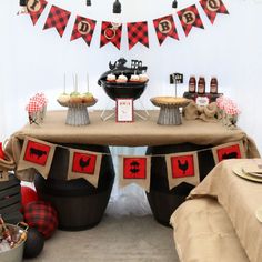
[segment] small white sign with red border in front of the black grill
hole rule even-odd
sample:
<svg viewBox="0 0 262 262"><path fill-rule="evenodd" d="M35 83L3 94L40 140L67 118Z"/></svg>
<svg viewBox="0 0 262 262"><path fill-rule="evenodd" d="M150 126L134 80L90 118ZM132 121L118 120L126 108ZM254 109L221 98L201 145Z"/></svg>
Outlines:
<svg viewBox="0 0 262 262"><path fill-rule="evenodd" d="M133 99L117 99L117 122L133 122Z"/></svg>

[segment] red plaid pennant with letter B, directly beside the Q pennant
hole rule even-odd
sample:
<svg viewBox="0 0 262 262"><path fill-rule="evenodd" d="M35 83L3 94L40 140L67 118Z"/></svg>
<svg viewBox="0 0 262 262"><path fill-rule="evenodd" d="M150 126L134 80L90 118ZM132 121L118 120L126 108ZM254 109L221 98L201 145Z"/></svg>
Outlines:
<svg viewBox="0 0 262 262"><path fill-rule="evenodd" d="M195 4L192 4L178 12L180 22L183 27L185 36L188 36L192 27L204 28Z"/></svg>

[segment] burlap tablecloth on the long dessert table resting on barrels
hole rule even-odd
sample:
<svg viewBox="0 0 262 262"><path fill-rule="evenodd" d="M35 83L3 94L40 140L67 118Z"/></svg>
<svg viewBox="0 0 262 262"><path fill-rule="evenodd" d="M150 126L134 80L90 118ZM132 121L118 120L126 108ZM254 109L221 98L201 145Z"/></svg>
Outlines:
<svg viewBox="0 0 262 262"><path fill-rule="evenodd" d="M159 111L150 111L150 119L135 119L132 123L117 123L114 119L102 121L101 111L89 112L90 124L66 124L67 111L48 111L43 123L26 124L13 133L6 151L18 163L26 137L51 143L85 143L100 145L143 147L178 143L212 144L243 141L249 158L258 158L258 149L241 129L228 129L220 122L182 120L181 125L157 124ZM0 163L1 164L1 163ZM0 165L1 168L1 165ZM31 175L31 174L30 174Z"/></svg>

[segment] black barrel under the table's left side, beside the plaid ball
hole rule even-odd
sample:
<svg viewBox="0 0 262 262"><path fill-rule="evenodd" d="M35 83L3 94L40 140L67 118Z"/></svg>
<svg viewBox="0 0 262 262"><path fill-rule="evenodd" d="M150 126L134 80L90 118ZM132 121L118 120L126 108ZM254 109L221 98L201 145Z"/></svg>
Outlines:
<svg viewBox="0 0 262 262"><path fill-rule="evenodd" d="M69 151L57 148L47 180L37 174L34 185L41 199L50 201L59 216L59 229L78 231L97 225L105 211L114 181L110 150L104 145L63 144L107 153L102 157L98 188L84 179L67 181Z"/></svg>

